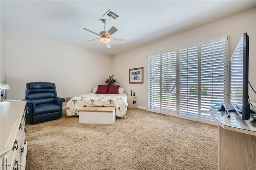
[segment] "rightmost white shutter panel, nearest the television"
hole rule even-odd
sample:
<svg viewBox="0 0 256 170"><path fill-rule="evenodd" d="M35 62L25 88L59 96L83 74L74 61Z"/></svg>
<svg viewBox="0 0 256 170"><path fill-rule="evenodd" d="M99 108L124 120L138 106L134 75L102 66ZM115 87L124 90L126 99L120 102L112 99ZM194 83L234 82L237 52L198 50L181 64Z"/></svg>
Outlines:
<svg viewBox="0 0 256 170"><path fill-rule="evenodd" d="M209 108L226 101L227 36L200 42L201 119L212 120Z"/></svg>

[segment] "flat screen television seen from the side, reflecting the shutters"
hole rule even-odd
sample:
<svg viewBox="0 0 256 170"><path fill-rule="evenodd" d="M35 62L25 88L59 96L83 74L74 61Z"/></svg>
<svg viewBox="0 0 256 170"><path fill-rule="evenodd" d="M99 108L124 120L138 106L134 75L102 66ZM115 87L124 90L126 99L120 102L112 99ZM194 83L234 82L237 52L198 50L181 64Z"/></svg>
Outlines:
<svg viewBox="0 0 256 170"><path fill-rule="evenodd" d="M250 119L248 65L249 36L244 33L230 59L230 103L243 120Z"/></svg>

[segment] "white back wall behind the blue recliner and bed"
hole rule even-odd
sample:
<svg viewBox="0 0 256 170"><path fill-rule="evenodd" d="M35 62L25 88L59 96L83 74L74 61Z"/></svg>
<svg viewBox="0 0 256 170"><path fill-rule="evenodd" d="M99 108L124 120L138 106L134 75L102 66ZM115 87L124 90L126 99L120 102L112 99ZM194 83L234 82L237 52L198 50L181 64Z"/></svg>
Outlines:
<svg viewBox="0 0 256 170"><path fill-rule="evenodd" d="M7 98L24 99L34 81L54 82L63 98L89 93L112 74L111 63L107 55L7 30Z"/></svg>

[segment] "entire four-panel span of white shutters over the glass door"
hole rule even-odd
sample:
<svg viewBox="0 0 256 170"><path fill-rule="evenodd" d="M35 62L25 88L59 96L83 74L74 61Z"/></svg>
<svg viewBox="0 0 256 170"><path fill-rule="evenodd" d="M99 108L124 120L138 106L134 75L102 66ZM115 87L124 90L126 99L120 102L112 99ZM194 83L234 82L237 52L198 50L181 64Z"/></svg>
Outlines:
<svg viewBox="0 0 256 170"><path fill-rule="evenodd" d="M148 55L148 110L211 123L226 101L227 35Z"/></svg>

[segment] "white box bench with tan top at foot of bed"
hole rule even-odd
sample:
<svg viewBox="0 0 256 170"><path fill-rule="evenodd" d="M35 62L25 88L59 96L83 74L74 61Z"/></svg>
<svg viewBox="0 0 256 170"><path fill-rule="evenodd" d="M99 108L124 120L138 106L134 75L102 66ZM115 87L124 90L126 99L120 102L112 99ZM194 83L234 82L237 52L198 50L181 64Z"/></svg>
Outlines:
<svg viewBox="0 0 256 170"><path fill-rule="evenodd" d="M86 106L79 110L79 123L113 124L116 107Z"/></svg>

